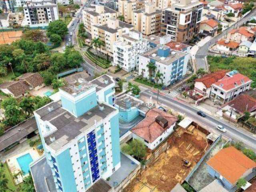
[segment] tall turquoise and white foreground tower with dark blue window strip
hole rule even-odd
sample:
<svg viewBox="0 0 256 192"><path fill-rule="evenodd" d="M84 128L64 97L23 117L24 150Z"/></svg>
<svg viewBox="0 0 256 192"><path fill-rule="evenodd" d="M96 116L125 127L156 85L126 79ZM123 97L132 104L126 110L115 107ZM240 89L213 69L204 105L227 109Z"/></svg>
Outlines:
<svg viewBox="0 0 256 192"><path fill-rule="evenodd" d="M85 192L120 168L112 78L80 79L34 112L57 192ZM110 86L111 85L111 86Z"/></svg>

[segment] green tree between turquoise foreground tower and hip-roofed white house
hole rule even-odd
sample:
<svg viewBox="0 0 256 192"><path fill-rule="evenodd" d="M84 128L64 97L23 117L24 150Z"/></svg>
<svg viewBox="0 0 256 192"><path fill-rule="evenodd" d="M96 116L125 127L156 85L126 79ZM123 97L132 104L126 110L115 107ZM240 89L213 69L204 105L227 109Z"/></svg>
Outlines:
<svg viewBox="0 0 256 192"><path fill-rule="evenodd" d="M140 140L133 139L128 144L122 147L122 152L142 160L146 156L146 146Z"/></svg>

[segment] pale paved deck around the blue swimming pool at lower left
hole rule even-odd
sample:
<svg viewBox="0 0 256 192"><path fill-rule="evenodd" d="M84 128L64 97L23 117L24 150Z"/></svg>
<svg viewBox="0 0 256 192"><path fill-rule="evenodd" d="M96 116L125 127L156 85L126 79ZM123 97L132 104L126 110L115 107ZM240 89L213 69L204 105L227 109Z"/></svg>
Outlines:
<svg viewBox="0 0 256 192"><path fill-rule="evenodd" d="M21 152L21 153L14 154L13 156L10 156L10 157L6 160L6 162L7 162L7 164L8 164L8 167L9 167L9 169L10 169L10 172L11 172L12 174L16 174L16 173L19 172L19 170L21 170L20 165L19 165L19 163L18 163L18 161L17 161L17 158L19 158L19 157L21 157L21 156L23 156L23 155L25 155L25 154L28 154L28 153L30 154L30 156L31 156L31 158L33 159L33 161L34 161L34 160L37 160L38 158L40 158L40 155L38 154L38 152L36 151L36 149L33 149L33 148L31 147L31 148L29 148L29 149L26 150L26 151L23 151L23 152ZM18 178L15 179L16 184L22 183L22 182L23 182L23 178L26 177L26 176L28 176L28 174L25 175L25 176L18 175Z"/></svg>

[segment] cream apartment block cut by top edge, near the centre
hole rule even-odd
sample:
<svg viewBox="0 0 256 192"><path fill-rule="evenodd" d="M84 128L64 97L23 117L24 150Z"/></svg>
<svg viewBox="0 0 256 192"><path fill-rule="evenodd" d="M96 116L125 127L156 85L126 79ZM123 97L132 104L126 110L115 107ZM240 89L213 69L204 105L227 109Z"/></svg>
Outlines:
<svg viewBox="0 0 256 192"><path fill-rule="evenodd" d="M124 21L132 24L132 12L145 7L148 0L118 0L118 13Z"/></svg>

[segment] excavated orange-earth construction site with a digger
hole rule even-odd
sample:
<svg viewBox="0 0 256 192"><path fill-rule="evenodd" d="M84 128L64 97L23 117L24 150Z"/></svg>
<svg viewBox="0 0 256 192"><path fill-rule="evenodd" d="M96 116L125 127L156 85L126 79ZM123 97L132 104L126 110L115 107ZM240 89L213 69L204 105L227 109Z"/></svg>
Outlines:
<svg viewBox="0 0 256 192"><path fill-rule="evenodd" d="M209 132L200 130L193 125L178 128L158 147L167 146L166 150L152 151L147 156L146 166L124 191L170 192L177 183L184 182L212 143L206 138Z"/></svg>

